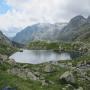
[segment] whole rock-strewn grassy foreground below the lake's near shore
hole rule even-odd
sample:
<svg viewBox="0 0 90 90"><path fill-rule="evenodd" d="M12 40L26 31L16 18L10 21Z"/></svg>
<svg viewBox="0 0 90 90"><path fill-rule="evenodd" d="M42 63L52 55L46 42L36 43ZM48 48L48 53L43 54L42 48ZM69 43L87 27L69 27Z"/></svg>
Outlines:
<svg viewBox="0 0 90 90"><path fill-rule="evenodd" d="M0 57L1 90L90 90L90 62L83 56L38 65L16 63L5 55Z"/></svg>

